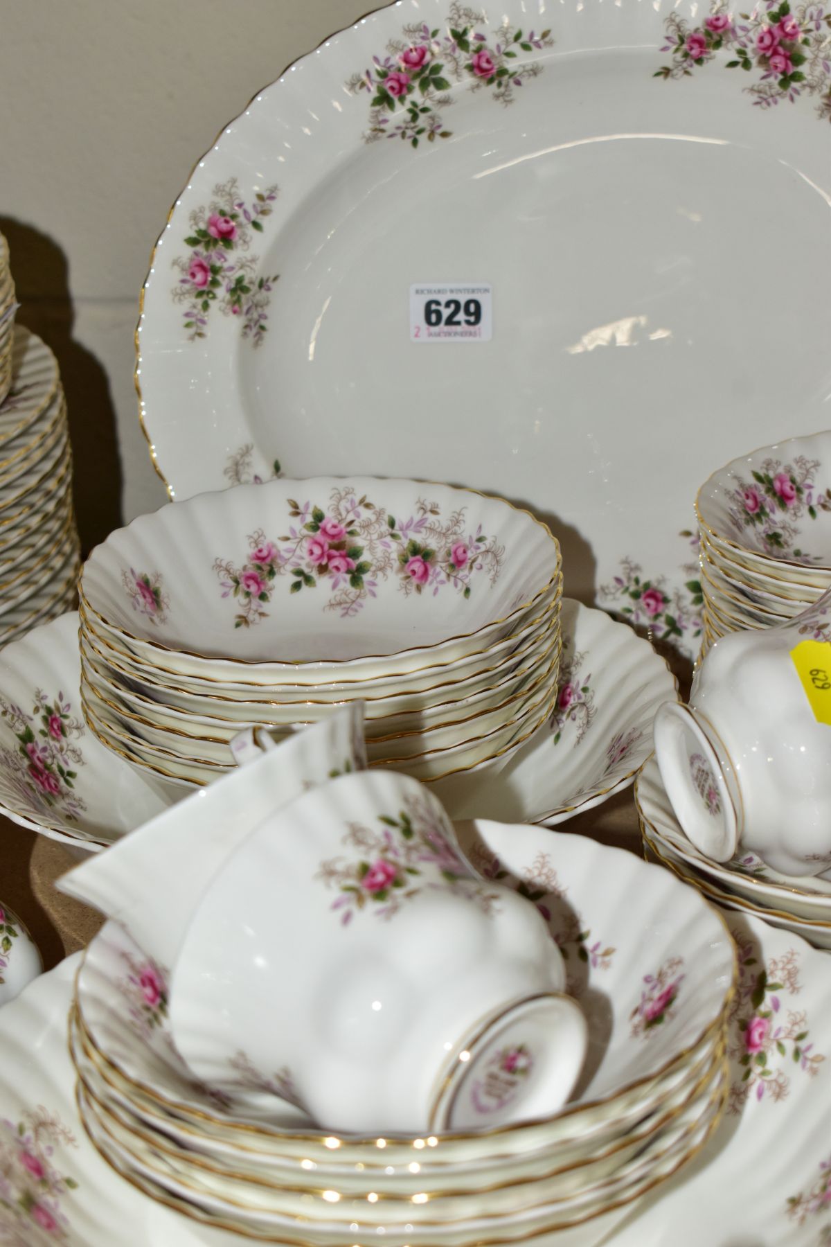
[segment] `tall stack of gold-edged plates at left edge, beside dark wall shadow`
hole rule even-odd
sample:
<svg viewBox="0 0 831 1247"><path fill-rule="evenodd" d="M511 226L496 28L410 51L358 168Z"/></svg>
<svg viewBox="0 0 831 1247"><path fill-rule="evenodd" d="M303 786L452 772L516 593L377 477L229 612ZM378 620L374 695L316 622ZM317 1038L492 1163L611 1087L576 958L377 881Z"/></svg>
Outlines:
<svg viewBox="0 0 831 1247"><path fill-rule="evenodd" d="M17 325L11 388L0 404L0 645L71 607L78 562L57 362Z"/></svg>

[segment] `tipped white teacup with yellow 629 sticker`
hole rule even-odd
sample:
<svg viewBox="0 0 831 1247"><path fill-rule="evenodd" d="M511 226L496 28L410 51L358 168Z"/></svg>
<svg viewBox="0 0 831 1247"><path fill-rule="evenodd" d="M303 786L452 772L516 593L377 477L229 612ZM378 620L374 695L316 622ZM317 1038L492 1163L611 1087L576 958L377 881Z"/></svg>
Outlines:
<svg viewBox="0 0 831 1247"><path fill-rule="evenodd" d="M689 707L655 716L675 814L714 862L739 850L787 875L831 867L831 591L796 619L718 640Z"/></svg>

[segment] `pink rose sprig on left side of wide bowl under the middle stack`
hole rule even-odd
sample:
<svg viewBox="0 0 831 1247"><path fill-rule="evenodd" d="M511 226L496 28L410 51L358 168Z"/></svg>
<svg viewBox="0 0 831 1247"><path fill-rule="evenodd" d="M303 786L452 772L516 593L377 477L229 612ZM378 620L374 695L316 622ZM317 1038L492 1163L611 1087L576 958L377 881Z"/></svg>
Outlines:
<svg viewBox="0 0 831 1247"><path fill-rule="evenodd" d="M72 742L86 729L72 715L71 703L62 692L50 698L39 688L31 715L0 698L0 717L17 739L16 749L0 748L4 786L22 797L26 807L34 807L35 817L42 817L46 809L60 809L64 818L75 822L86 804L75 792L83 754Z"/></svg>

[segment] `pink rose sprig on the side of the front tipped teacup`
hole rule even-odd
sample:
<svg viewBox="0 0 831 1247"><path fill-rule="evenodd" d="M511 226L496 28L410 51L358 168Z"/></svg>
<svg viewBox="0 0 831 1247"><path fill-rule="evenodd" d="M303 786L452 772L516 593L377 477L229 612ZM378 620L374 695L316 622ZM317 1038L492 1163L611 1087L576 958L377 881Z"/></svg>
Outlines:
<svg viewBox="0 0 831 1247"><path fill-rule="evenodd" d="M449 888L467 897L485 913L496 905L490 892L453 848L441 807L425 796L410 798L397 816L379 816L380 827L351 823L341 843L345 857L323 862L315 878L338 892L331 909L345 927L369 910L390 919L424 888ZM435 880L425 879L425 868Z"/></svg>

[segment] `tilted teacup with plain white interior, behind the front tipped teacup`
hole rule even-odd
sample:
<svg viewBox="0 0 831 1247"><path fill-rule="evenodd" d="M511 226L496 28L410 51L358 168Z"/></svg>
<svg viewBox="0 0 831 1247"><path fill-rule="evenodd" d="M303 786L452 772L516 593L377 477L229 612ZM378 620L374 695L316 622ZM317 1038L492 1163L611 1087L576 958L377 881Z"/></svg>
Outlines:
<svg viewBox="0 0 831 1247"><path fill-rule="evenodd" d="M351 702L275 744L232 742L238 768L87 858L56 887L122 923L158 965L176 960L191 914L223 862L272 811L334 774L366 767L364 706Z"/></svg>

